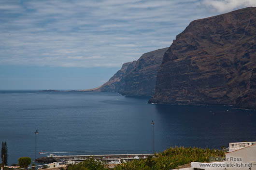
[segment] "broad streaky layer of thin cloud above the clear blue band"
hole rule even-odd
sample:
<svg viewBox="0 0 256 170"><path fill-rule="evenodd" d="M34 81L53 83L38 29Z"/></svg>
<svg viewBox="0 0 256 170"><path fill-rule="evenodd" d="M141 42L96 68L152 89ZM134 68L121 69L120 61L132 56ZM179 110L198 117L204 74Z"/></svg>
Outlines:
<svg viewBox="0 0 256 170"><path fill-rule="evenodd" d="M121 66L215 14L199 0L1 0L0 65Z"/></svg>

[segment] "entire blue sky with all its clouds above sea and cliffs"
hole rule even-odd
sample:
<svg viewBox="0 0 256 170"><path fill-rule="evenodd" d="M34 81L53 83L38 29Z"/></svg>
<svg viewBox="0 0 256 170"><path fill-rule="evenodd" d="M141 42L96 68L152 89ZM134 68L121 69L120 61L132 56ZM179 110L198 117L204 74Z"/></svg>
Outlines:
<svg viewBox="0 0 256 170"><path fill-rule="evenodd" d="M190 22L256 0L1 0L0 90L90 89Z"/></svg>

